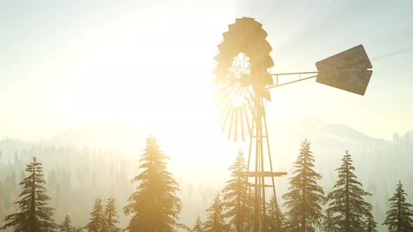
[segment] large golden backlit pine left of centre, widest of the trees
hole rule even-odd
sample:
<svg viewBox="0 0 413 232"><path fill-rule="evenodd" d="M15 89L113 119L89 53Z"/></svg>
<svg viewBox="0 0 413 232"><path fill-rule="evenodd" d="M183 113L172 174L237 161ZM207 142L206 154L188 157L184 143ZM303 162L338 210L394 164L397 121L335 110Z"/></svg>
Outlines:
<svg viewBox="0 0 413 232"><path fill-rule="evenodd" d="M155 136L146 138L146 148L141 155L144 171L134 177L138 187L123 208L125 215L132 215L129 231L172 231L176 226L181 199L176 196L179 185L167 171L169 157L160 150Z"/></svg>

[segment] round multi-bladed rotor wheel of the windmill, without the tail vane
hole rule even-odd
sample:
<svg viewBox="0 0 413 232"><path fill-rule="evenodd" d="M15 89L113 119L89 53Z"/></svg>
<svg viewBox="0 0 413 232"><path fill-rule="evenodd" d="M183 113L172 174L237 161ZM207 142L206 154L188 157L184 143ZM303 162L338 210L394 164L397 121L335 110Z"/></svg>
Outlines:
<svg viewBox="0 0 413 232"><path fill-rule="evenodd" d="M260 98L271 100L267 86L274 84L268 68L274 66L269 56L271 45L267 32L253 18L242 17L228 26L215 57L214 90L221 133L228 139L251 136Z"/></svg>

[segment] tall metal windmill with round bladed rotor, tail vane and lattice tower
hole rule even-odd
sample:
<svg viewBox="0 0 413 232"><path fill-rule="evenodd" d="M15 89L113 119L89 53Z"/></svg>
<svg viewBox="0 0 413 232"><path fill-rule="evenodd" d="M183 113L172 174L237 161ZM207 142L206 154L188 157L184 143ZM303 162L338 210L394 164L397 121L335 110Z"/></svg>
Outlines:
<svg viewBox="0 0 413 232"><path fill-rule="evenodd" d="M271 101L269 89L316 78L316 82L355 94L364 95L372 75L370 60L358 45L316 62L317 71L298 73L269 73L274 66L269 56L271 45L266 41L267 32L262 24L250 17L237 18L223 33L215 57L213 89L216 113L221 133L228 139L249 138L247 171L237 175L252 177L254 188L254 231L262 228L265 215L265 188L272 187L276 200L274 177L286 172L274 172L269 150L265 105ZM298 75L297 80L279 82L281 75ZM311 75L301 78L302 75ZM253 155L251 155L253 154ZM265 182L270 178L270 182Z"/></svg>

